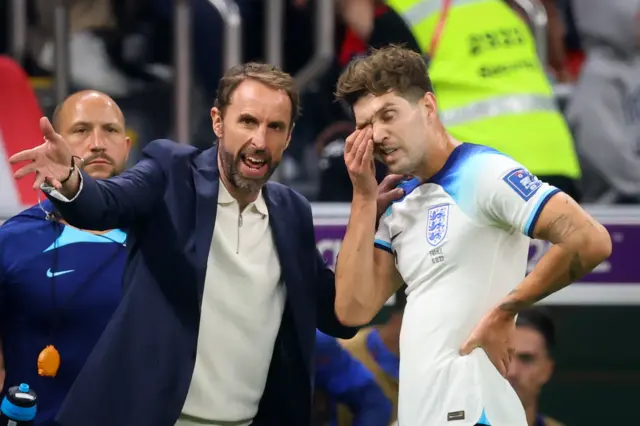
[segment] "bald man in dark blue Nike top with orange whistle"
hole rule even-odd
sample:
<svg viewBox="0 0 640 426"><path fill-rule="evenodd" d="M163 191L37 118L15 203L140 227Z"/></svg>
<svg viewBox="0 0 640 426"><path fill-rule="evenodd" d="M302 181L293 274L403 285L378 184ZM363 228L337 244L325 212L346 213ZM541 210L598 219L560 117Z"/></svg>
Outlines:
<svg viewBox="0 0 640 426"><path fill-rule="evenodd" d="M115 102L94 91L71 95L54 113L84 171L119 174L130 141ZM36 425L55 424L67 392L122 293L126 234L67 225L48 200L0 227L0 340L5 380L38 394ZM1 370L1 369L0 369Z"/></svg>

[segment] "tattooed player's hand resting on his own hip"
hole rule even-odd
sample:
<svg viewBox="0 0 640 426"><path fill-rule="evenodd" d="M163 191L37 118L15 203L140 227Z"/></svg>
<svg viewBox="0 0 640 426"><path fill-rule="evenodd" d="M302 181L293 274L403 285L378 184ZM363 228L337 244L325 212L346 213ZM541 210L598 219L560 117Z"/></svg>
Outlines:
<svg viewBox="0 0 640 426"><path fill-rule="evenodd" d="M496 369L505 377L513 358L511 338L515 330L513 315L491 311L485 315L460 348L460 355L468 355L482 348Z"/></svg>

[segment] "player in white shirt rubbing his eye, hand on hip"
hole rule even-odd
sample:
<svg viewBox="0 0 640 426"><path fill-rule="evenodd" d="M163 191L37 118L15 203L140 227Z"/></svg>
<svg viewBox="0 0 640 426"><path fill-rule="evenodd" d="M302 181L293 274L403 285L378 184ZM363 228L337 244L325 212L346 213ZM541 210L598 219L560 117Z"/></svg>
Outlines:
<svg viewBox="0 0 640 426"><path fill-rule="evenodd" d="M447 134L416 53L388 47L355 60L337 97L356 130L344 154L353 201L336 312L366 324L407 284L398 424L526 426L504 377L515 318L605 260L608 232L513 159ZM374 156L412 176L381 218ZM553 246L525 277L530 238Z"/></svg>

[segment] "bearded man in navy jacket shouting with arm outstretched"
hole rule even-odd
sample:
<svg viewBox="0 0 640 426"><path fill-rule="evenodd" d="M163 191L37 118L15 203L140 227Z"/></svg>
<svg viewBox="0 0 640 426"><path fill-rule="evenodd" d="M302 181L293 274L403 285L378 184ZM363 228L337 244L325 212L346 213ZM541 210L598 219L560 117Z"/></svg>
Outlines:
<svg viewBox="0 0 640 426"><path fill-rule="evenodd" d="M310 424L316 326L356 330L335 316L309 203L267 183L297 115L293 79L251 63L220 80L206 151L154 141L135 167L96 181L43 118L45 142L11 158L29 162L16 178L35 173L71 225L129 235L123 301L63 426Z"/></svg>

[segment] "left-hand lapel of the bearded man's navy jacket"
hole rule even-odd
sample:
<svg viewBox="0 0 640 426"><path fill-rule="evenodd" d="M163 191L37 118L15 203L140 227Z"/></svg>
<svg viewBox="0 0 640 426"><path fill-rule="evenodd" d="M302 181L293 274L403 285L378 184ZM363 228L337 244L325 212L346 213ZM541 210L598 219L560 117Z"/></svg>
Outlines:
<svg viewBox="0 0 640 426"><path fill-rule="evenodd" d="M218 147L210 148L195 159L193 183L196 192L196 227L194 229L196 269L198 271L198 306L202 306L207 260L211 250L218 203Z"/></svg>

